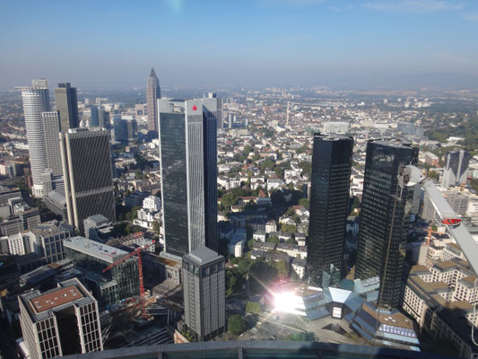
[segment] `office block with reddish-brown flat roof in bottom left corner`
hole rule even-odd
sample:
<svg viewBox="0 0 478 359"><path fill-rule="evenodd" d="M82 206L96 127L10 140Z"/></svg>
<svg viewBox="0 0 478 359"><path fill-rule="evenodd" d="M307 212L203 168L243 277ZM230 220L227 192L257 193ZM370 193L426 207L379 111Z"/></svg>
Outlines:
<svg viewBox="0 0 478 359"><path fill-rule="evenodd" d="M31 359L103 350L98 303L76 278L48 292L18 298L23 340Z"/></svg>

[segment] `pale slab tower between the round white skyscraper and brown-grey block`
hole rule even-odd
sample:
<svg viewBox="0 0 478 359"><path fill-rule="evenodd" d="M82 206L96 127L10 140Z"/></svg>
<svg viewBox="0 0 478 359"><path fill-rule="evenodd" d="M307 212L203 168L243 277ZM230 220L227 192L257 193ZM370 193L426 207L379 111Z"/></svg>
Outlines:
<svg viewBox="0 0 478 359"><path fill-rule="evenodd" d="M60 154L60 140L58 133L60 132L60 119L58 111L48 111L41 114L43 119L43 129L45 133L45 151L47 154L47 166L53 176L61 176L63 174ZM48 195L44 191L44 195Z"/></svg>

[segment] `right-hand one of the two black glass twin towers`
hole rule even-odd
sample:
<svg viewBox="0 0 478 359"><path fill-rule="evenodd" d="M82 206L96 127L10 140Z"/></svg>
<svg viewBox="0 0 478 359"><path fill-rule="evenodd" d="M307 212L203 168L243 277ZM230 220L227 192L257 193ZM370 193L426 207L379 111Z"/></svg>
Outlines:
<svg viewBox="0 0 478 359"><path fill-rule="evenodd" d="M398 186L400 165L416 165L418 149L399 140L369 141L355 278L378 278L378 307L398 308L413 188Z"/></svg>

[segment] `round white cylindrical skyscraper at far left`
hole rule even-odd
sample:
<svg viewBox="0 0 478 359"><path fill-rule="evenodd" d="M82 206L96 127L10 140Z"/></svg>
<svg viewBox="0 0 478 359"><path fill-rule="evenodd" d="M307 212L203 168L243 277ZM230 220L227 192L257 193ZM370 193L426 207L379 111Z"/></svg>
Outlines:
<svg viewBox="0 0 478 359"><path fill-rule="evenodd" d="M22 87L23 115L30 152L33 196L43 197L42 173L48 168L42 113L50 110L47 80L32 80L31 86Z"/></svg>

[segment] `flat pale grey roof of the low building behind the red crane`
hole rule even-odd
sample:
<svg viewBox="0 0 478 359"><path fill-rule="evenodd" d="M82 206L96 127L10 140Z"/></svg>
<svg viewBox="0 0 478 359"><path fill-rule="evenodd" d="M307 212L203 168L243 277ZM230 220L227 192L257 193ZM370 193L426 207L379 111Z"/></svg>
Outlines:
<svg viewBox="0 0 478 359"><path fill-rule="evenodd" d="M81 236L68 238L63 241L63 245L65 248L77 250L94 258L100 258L110 264L128 254L126 250L118 250L115 247L102 244L98 241L91 241Z"/></svg>

